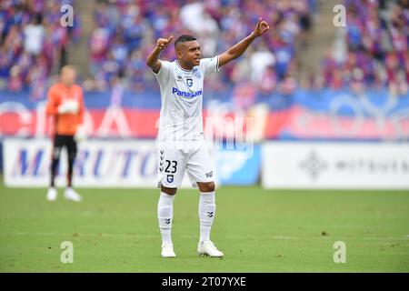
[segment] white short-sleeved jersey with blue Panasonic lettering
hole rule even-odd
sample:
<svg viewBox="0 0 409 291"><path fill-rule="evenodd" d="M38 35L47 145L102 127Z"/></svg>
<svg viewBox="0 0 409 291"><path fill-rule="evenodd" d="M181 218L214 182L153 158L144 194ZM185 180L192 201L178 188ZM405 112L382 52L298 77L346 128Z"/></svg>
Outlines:
<svg viewBox="0 0 409 291"><path fill-rule="evenodd" d="M204 80L205 75L219 70L218 60L218 56L203 58L200 65L190 71L177 61L161 61L159 72L155 74L162 99L158 141L204 139Z"/></svg>

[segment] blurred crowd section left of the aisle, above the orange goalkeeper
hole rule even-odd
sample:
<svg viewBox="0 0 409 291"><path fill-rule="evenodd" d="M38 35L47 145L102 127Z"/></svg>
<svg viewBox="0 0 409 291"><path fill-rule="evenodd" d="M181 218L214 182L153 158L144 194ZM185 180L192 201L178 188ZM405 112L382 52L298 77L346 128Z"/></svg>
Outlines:
<svg viewBox="0 0 409 291"><path fill-rule="evenodd" d="M0 1L0 89L45 95L53 68L66 62L67 45L80 34L80 25L60 24L61 6L73 2Z"/></svg>

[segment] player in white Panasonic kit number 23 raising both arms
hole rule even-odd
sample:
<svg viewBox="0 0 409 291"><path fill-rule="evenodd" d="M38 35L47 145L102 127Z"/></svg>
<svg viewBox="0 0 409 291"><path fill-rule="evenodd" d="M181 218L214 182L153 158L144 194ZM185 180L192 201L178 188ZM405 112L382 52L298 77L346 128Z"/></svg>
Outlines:
<svg viewBox="0 0 409 291"><path fill-rule="evenodd" d="M164 257L174 257L171 230L173 203L177 187L181 186L185 171L193 186L198 186L200 239L197 253L201 256L222 257L210 240L215 215L213 168L205 146L202 118L202 98L205 75L244 53L269 25L259 18L251 35L233 45L221 55L200 58L200 44L194 36L181 35L175 40L177 60L166 62L159 55L173 39L159 38L155 49L146 59L161 90L162 107L157 136L158 186L161 194L157 206Z"/></svg>

